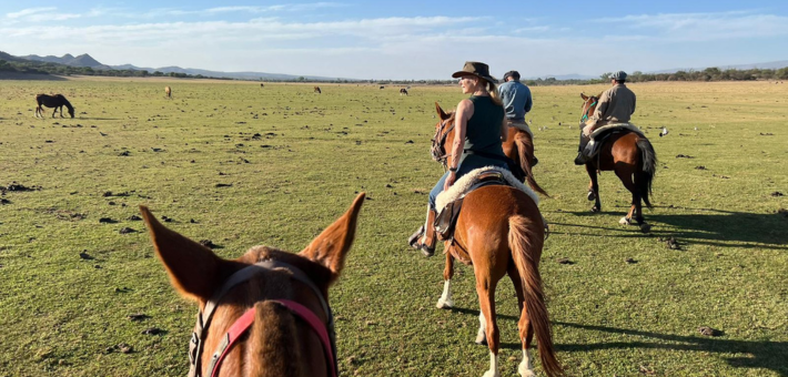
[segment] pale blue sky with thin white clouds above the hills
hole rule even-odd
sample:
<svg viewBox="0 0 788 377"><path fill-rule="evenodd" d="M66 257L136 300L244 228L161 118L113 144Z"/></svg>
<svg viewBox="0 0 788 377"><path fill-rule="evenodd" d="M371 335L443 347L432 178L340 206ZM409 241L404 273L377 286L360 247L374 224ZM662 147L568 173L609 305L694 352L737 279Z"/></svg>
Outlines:
<svg viewBox="0 0 788 377"><path fill-rule="evenodd" d="M501 78L788 60L788 1L8 1L0 51L351 79Z"/></svg>

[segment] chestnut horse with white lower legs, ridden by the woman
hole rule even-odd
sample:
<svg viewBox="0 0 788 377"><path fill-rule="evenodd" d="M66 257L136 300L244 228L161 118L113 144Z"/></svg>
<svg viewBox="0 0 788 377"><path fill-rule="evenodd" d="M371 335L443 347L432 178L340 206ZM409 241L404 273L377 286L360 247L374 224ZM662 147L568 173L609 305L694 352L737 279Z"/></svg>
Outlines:
<svg viewBox="0 0 788 377"><path fill-rule="evenodd" d="M447 163L452 165L453 156L446 155L445 151L446 145L452 145L455 136L454 113L445 113L437 103L435 108L441 121L436 124L433 140L433 157L440 161L447 159ZM436 153L440 156L435 155ZM495 288L507 274L514 283L521 309L518 328L523 361L517 368L518 373L522 376L534 376L528 348L535 333L546 375L553 377L563 374L553 347L538 269L544 237L545 227L537 204L517 188L503 185L484 186L467 194L463 201L454 240L445 243L444 291L437 307L453 306L451 282L454 276L454 258L473 265L481 306L476 343L486 343L491 353L491 366L484 374L485 377L499 376L501 339L496 323Z"/></svg>

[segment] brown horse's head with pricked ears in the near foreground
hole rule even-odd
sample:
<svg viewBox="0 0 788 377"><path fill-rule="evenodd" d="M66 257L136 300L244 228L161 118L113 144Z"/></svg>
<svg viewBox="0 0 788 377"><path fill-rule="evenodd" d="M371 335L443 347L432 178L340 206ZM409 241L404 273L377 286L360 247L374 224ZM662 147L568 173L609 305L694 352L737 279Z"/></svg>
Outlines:
<svg viewBox="0 0 788 377"><path fill-rule="evenodd" d="M233 261L140 207L170 283L200 309L190 377L336 376L329 287L342 273L363 202L362 193L299 254L254 246Z"/></svg>

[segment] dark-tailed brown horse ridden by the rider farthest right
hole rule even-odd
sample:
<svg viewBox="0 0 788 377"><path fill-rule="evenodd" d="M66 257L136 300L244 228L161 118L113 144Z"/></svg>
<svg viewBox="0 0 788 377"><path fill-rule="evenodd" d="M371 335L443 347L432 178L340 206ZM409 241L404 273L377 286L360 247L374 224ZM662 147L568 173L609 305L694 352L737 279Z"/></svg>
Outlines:
<svg viewBox="0 0 788 377"><path fill-rule="evenodd" d="M583 99L580 126L583 126L585 121L594 115L596 105L599 102L599 95L588 96L580 93L580 98ZM588 163L586 163L586 171L590 177L588 200L595 201L592 211L602 211L597 172L614 171L618 179L622 180L624 186L632 193L632 207L619 223L630 224L633 216L635 216L635 221L637 221L644 233L650 231L651 226L643 218L640 201L643 200L649 208L651 207L648 195L651 193L651 182L654 182L656 165L657 154L645 136L632 131L625 131L608 137L599 146L598 156L589 159Z"/></svg>

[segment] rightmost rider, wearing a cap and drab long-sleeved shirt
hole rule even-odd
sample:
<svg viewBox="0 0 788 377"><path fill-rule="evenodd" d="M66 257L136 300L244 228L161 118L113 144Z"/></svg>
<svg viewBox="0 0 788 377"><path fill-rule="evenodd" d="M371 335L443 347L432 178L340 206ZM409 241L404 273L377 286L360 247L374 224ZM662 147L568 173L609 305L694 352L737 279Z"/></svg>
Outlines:
<svg viewBox="0 0 788 377"><path fill-rule="evenodd" d="M586 145L590 141L590 134L594 130L610 123L627 123L635 113L635 93L633 93L624 83L627 81L627 73L618 71L610 74L610 84L613 86L606 90L599 96L599 102L596 105L594 115L586 122L580 123L580 145L576 165L584 165L588 162L588 152Z"/></svg>

